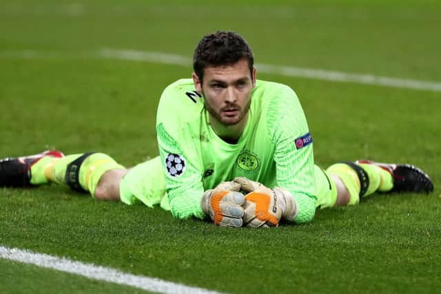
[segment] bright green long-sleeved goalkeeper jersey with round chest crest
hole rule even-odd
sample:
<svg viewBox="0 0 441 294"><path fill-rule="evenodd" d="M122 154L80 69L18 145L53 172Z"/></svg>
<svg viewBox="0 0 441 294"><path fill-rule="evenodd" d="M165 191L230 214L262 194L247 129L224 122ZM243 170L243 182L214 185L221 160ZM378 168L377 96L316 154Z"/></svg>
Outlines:
<svg viewBox="0 0 441 294"><path fill-rule="evenodd" d="M244 132L236 144L229 144L212 129L192 79L178 80L161 96L156 132L175 218L205 218L203 192L237 176L290 191L298 205L295 222L314 218L312 140L290 87L256 81Z"/></svg>

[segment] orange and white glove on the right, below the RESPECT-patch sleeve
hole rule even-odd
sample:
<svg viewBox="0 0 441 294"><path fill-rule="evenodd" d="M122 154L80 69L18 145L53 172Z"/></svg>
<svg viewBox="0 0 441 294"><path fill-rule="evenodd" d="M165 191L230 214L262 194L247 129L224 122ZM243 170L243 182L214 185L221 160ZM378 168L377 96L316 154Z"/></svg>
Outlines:
<svg viewBox="0 0 441 294"><path fill-rule="evenodd" d="M277 227L281 218L294 220L297 205L289 191L275 187L269 189L260 182L244 177L234 179L245 195L243 225L247 227Z"/></svg>

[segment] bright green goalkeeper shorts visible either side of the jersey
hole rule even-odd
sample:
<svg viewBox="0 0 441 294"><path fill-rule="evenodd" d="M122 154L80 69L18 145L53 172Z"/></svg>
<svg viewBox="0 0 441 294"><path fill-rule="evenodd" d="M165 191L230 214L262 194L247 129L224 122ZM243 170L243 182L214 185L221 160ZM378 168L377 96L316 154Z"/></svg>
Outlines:
<svg viewBox="0 0 441 294"><path fill-rule="evenodd" d="M320 167L314 167L316 180L316 207L333 207L337 200L336 184ZM165 193L165 175L161 158L156 157L132 167L123 177L120 184L121 201L125 204L142 202L147 207L160 204L161 208L170 210Z"/></svg>

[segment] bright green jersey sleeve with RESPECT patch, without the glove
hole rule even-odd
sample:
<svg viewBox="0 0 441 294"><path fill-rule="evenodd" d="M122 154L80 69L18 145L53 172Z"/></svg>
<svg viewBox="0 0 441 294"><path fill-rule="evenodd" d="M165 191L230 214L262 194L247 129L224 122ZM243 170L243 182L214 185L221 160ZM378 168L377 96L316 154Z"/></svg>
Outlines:
<svg viewBox="0 0 441 294"><path fill-rule="evenodd" d="M280 96L278 119L274 119L277 185L294 198L297 216L294 222L310 222L316 211L314 153L303 109L293 90L284 87Z"/></svg>

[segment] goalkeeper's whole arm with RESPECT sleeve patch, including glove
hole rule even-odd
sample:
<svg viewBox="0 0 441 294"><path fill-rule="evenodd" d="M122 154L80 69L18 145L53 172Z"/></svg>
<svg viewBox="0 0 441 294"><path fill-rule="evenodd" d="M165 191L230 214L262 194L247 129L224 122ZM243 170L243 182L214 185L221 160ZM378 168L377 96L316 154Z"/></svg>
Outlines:
<svg viewBox="0 0 441 294"><path fill-rule="evenodd" d="M276 187L235 178L245 195L248 227L277 227L281 218L309 222L316 211L314 157L305 114L294 91L278 86L267 96L263 116L276 162Z"/></svg>

